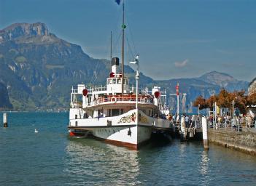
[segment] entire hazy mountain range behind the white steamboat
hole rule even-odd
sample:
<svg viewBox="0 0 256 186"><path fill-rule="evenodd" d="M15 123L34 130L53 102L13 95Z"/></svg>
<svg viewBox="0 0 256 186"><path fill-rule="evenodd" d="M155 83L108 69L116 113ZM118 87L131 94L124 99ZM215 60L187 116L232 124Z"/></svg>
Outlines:
<svg viewBox="0 0 256 186"><path fill-rule="evenodd" d="M106 84L109 61L85 54L77 44L59 39L44 23L15 23L0 31L0 82L7 87L14 110L68 109L71 86L76 84ZM134 70L125 65L125 75L135 85ZM154 81L140 73L141 87L157 85L175 93L177 82L183 98L183 108L202 94L209 97L222 87L229 90L247 89L247 82L228 74L211 72L199 78ZM228 82L228 84L227 84ZM171 97L170 102L174 102ZM173 104L175 105L175 104ZM185 105L185 106L184 106Z"/></svg>

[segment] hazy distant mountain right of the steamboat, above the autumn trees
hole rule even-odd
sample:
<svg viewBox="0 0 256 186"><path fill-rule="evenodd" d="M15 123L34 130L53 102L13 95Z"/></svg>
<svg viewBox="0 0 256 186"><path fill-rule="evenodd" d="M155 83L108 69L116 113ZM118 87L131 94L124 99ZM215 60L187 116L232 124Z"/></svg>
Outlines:
<svg viewBox="0 0 256 186"><path fill-rule="evenodd" d="M181 110L182 112L186 112L186 110L190 110L190 112L196 112L197 110L193 108L193 100L199 95L202 95L205 98L210 97L213 94L218 94L221 89L227 89L230 92L235 90L244 89L247 91L247 87L249 82L247 81L238 81L236 78L226 74L220 73L216 71L212 71L209 73L203 74L198 78L179 78L179 79L170 79L168 81L159 81L159 83L163 87L167 87L167 89L171 89L172 93L175 91L175 86L179 83L179 92L186 93L186 97L181 102ZM184 102L182 104L182 102ZM171 101L171 106L173 108L177 108L176 100L174 97Z"/></svg>

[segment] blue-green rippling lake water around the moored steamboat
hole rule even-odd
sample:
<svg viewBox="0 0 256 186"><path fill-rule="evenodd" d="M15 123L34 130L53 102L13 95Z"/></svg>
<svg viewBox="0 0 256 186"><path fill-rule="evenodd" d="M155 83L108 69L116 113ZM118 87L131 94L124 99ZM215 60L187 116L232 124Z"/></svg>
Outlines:
<svg viewBox="0 0 256 186"><path fill-rule="evenodd" d="M8 119L7 129L0 122L0 185L256 185L256 157L225 147L172 140L128 150L70 139L68 113Z"/></svg>

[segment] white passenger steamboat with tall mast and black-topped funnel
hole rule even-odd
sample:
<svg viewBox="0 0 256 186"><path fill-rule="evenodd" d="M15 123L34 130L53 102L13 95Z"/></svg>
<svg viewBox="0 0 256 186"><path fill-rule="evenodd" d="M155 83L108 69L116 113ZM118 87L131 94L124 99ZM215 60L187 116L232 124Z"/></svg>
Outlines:
<svg viewBox="0 0 256 186"><path fill-rule="evenodd" d="M124 19L122 29L121 70L119 58L112 57L105 86L72 87L68 129L71 137L90 134L115 145L138 149L150 140L152 132L171 129L173 124L164 117L169 112L166 91L159 86L139 90L138 55L131 62L136 65L136 87L129 86L124 73Z"/></svg>

